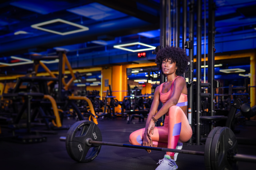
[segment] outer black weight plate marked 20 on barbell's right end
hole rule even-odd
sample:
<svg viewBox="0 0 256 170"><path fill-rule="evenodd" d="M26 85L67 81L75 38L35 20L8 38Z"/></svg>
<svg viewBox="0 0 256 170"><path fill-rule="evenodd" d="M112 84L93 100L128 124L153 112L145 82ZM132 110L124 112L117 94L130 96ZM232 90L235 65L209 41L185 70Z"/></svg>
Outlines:
<svg viewBox="0 0 256 170"><path fill-rule="evenodd" d="M236 169L236 163L228 160L228 151L237 152L237 141L233 131L227 127L220 128L214 135L211 146L211 169Z"/></svg>

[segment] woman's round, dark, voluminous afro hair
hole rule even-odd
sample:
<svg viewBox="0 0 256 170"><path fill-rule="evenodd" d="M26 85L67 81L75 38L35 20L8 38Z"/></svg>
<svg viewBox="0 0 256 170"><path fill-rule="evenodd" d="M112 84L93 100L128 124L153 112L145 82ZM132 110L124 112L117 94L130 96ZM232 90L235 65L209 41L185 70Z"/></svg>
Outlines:
<svg viewBox="0 0 256 170"><path fill-rule="evenodd" d="M167 46L160 49L156 54L156 65L162 72L162 62L166 59L170 59L172 63L176 63L177 70L176 75L182 76L182 74L187 70L188 67L188 56L186 52L177 47Z"/></svg>

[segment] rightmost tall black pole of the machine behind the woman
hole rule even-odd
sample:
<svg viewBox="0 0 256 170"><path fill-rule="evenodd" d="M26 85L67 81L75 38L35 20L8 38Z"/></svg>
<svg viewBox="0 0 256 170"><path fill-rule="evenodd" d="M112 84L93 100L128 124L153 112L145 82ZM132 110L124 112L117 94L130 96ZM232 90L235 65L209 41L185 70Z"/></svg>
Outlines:
<svg viewBox="0 0 256 170"><path fill-rule="evenodd" d="M211 93L210 97L210 116L215 115L214 111L214 32L215 32L215 4L213 0L209 0L209 27L208 27L208 83L211 86L208 88L208 93ZM210 130L213 129L211 123Z"/></svg>

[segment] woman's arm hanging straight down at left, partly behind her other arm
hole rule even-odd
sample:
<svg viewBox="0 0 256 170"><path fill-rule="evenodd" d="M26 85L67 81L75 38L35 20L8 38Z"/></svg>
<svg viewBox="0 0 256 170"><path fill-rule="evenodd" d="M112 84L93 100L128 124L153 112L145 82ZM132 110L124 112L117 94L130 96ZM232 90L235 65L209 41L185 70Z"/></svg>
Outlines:
<svg viewBox="0 0 256 170"><path fill-rule="evenodd" d="M147 129L148 129L148 125L151 121L151 117L153 115L156 115L156 111L157 111L157 108L158 108L158 105L159 105L159 97L160 97L159 89L160 89L160 85L156 87L156 90L154 92L154 99L153 99L153 102L151 104L150 111L148 113L148 118L147 118L146 127L145 127L146 130L144 132L144 135L147 135Z"/></svg>

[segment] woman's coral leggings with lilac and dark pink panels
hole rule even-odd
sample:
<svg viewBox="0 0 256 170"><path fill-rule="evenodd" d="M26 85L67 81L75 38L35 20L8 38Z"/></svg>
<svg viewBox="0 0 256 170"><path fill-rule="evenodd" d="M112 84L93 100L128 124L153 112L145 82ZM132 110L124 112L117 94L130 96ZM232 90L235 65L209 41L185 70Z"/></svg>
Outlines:
<svg viewBox="0 0 256 170"><path fill-rule="evenodd" d="M132 132L129 142L133 145L142 145L145 128ZM165 116L164 126L155 127L151 135L153 146L161 148L176 149L178 142L187 142L192 136L192 129L188 118L178 106L169 108L169 116ZM166 152L174 156L174 152Z"/></svg>

